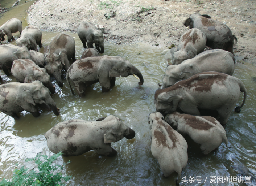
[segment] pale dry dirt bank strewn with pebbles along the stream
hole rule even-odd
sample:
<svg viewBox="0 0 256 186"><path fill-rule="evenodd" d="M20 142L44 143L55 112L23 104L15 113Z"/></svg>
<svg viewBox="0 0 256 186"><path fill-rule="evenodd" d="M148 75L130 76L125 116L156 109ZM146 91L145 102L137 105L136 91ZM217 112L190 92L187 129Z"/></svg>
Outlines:
<svg viewBox="0 0 256 186"><path fill-rule="evenodd" d="M102 29L116 44L178 45L190 14L208 14L238 38L236 62L256 65L255 0L38 0L28 10L30 25L42 30L77 32L82 21Z"/></svg>

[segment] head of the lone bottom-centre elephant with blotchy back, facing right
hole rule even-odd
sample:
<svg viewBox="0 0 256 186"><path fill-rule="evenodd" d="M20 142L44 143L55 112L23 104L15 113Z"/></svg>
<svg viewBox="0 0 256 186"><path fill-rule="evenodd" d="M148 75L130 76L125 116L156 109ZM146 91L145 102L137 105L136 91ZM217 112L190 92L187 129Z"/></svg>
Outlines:
<svg viewBox="0 0 256 186"><path fill-rule="evenodd" d="M110 118L111 120L109 120ZM100 118L100 121L105 119L106 122L111 123L111 126L104 134L104 143L118 142L123 139L123 137L126 139L132 139L135 137L135 131L125 125L119 117L110 115L104 119Z"/></svg>

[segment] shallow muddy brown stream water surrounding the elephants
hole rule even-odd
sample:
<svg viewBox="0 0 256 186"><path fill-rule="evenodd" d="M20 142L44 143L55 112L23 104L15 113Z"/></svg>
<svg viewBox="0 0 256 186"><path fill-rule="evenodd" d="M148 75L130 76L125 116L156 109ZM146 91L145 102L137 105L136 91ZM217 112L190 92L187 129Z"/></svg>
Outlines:
<svg viewBox="0 0 256 186"><path fill-rule="evenodd" d="M0 18L0 25L8 19L21 18L23 27L26 23L24 10L33 2L23 3L7 12ZM11 5L13 2L10 3ZM50 43L58 33L43 32L44 47ZM71 34L76 43L77 59L84 51L82 42L77 34ZM19 34L14 34L15 39ZM6 42L5 42L6 44ZM16 44L11 42L11 44ZM136 132L132 140L122 139L112 143L112 147L118 152L115 157L102 157L94 151L77 157L59 157L58 163L62 164L71 160L65 166L63 174L74 177L67 185L175 185L177 174L169 178L163 178L160 166L151 154L150 131L148 127L148 115L155 111L153 100L154 92L161 83L161 77L166 68L165 54L162 48L146 46L143 44L116 45L105 42L104 55L119 55L132 62L143 74L144 84L139 86L137 79L132 76L116 79L116 85L107 93L101 93L99 83L87 89L86 96L80 98L77 93L72 95L65 74L63 75L64 86L59 88L55 79L52 81L56 86L53 96L61 115L55 116L53 112L41 110L41 115L34 118L29 112L22 112L19 120L0 113L0 175L11 178L12 171L19 163L32 168L34 165L25 163L28 157L34 157L42 152L52 155L46 145L44 134L58 122L79 118L83 120L96 120L114 114L120 117L129 127ZM140 54L138 54L140 53ZM247 88L247 100L240 113L232 112L225 126L228 145L224 144L218 150L209 155L202 155L197 144L189 138L188 164L182 172L182 176L201 176L203 182L198 185L214 185L210 183L210 176L251 176L256 175L256 68L250 65L236 65L234 76L240 78ZM4 83L15 82L13 76L5 76L0 70ZM240 95L238 105L241 104L243 95ZM196 183L190 183L195 185ZM251 184L255 185L255 181ZM184 183L181 185L185 185ZM227 185L227 184L218 184ZM230 185L245 185L232 183Z"/></svg>

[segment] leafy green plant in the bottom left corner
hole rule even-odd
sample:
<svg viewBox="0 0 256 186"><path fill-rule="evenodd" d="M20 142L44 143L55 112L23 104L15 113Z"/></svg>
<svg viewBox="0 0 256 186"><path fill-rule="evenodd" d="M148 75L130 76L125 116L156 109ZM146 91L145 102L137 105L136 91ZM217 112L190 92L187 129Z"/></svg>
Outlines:
<svg viewBox="0 0 256 186"><path fill-rule="evenodd" d="M54 154L48 158L46 155L38 153L34 158L27 158L26 161L34 161L37 165L28 171L22 166L20 169L13 171L12 181L3 178L0 186L61 186L65 185L72 176L62 176L61 173L53 173L59 169L63 170L63 166L53 164L57 157L61 156L61 152ZM70 161L63 164L69 164ZM16 164L18 165L18 164ZM38 171L35 171L35 168ZM63 182L64 181L64 182Z"/></svg>

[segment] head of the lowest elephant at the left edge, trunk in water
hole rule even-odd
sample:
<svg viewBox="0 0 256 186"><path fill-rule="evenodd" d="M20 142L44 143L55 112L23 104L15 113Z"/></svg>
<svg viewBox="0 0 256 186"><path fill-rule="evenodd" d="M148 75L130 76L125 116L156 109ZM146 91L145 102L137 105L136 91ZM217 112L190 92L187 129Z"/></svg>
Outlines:
<svg viewBox="0 0 256 186"><path fill-rule="evenodd" d="M59 115L59 111L51 98L48 88L40 81L33 81L28 84L28 89L22 91L22 101L34 106L36 104L46 104L52 109L56 116Z"/></svg>

